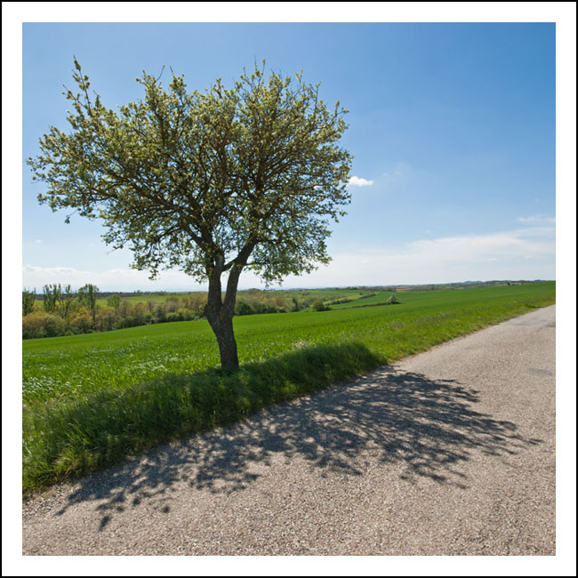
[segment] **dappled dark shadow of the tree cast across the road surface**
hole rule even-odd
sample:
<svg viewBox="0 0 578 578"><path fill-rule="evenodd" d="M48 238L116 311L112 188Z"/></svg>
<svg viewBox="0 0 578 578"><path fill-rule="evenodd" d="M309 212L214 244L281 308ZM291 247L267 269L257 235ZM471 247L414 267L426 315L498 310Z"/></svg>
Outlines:
<svg viewBox="0 0 578 578"><path fill-rule="evenodd" d="M477 390L457 381L381 368L82 478L57 514L78 502L98 502L103 529L115 511L153 499L149 506L166 513L177 486L243 491L278 456L301 458L322 476L362 476L371 462L392 463L410 482L429 478L465 489L469 480L458 466L472 452L517 454L541 443L520 436L510 421L477 412L478 401Z"/></svg>

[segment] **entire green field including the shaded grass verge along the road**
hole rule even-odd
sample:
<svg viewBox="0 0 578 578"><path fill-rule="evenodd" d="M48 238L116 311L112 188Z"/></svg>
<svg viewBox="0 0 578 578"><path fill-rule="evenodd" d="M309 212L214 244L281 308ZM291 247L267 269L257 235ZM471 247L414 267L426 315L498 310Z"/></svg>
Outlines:
<svg viewBox="0 0 578 578"><path fill-rule="evenodd" d="M389 294L235 317L232 374L215 369L204 320L23 341L25 491L550 305L555 283L400 292L399 305L359 307Z"/></svg>

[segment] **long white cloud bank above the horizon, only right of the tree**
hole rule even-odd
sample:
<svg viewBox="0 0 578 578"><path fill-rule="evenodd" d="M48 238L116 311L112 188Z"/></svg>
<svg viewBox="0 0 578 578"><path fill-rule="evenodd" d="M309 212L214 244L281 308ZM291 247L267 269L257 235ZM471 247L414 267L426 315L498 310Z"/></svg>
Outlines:
<svg viewBox="0 0 578 578"><path fill-rule="evenodd" d="M420 239L398 247L362 248L333 253L327 266L304 277L289 277L286 287L401 285L554 279L553 227L516 229L486 235Z"/></svg>

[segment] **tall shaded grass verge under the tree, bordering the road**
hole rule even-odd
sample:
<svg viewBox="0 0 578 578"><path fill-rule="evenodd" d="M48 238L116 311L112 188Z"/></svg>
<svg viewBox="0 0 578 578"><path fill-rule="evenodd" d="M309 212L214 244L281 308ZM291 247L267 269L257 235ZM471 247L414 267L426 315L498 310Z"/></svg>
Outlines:
<svg viewBox="0 0 578 578"><path fill-rule="evenodd" d="M248 363L237 372L168 374L67 404L33 405L24 412L24 494L158 443L239 421L265 405L325 388L385 361L358 342L318 345Z"/></svg>

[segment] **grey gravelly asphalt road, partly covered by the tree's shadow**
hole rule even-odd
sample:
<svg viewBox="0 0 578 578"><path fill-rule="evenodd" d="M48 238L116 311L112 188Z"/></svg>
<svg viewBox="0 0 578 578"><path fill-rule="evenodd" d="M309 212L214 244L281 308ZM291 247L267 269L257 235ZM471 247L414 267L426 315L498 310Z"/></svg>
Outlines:
<svg viewBox="0 0 578 578"><path fill-rule="evenodd" d="M25 555L554 555L555 306L24 504Z"/></svg>

